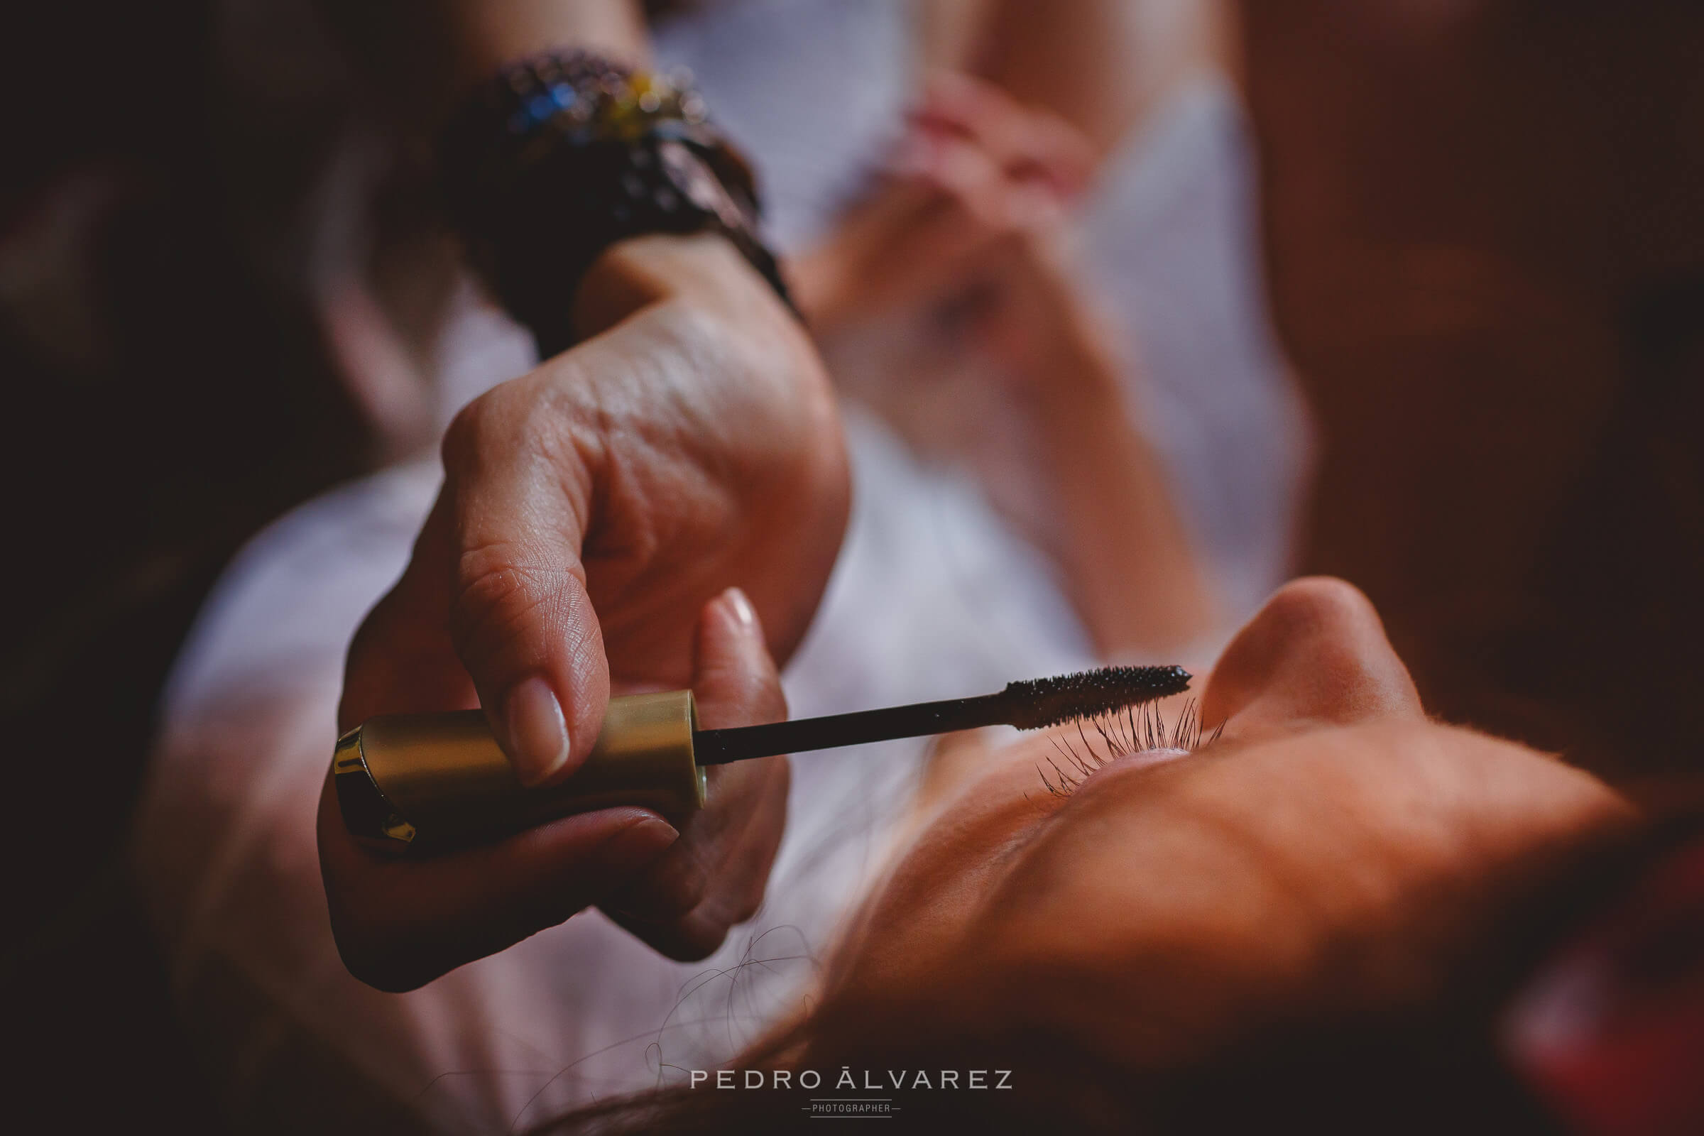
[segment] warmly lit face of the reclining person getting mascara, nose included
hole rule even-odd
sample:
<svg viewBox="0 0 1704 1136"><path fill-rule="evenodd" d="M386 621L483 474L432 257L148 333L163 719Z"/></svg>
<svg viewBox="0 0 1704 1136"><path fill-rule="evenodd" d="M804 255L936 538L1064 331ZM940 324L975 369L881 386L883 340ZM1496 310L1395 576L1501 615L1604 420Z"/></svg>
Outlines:
<svg viewBox="0 0 1704 1136"><path fill-rule="evenodd" d="M1425 1007L1511 896L1627 821L1585 773L1428 722L1336 581L1266 605L1201 717L1229 726L1195 753L1106 760L1070 729L980 754L843 940L823 1020L1188 1066L1259 1029ZM1056 785L1067 739L1097 768L1062 797L1038 765Z"/></svg>

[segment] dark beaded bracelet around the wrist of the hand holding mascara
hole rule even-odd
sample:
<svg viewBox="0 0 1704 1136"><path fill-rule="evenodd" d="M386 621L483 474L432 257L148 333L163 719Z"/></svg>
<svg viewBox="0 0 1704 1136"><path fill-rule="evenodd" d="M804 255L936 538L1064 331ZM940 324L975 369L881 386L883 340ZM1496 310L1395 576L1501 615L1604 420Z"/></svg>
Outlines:
<svg viewBox="0 0 1704 1136"><path fill-rule="evenodd" d="M469 97L441 160L475 267L545 356L574 344L569 313L593 261L642 233L722 233L797 315L757 235L751 167L683 73L588 51L523 60Z"/></svg>

